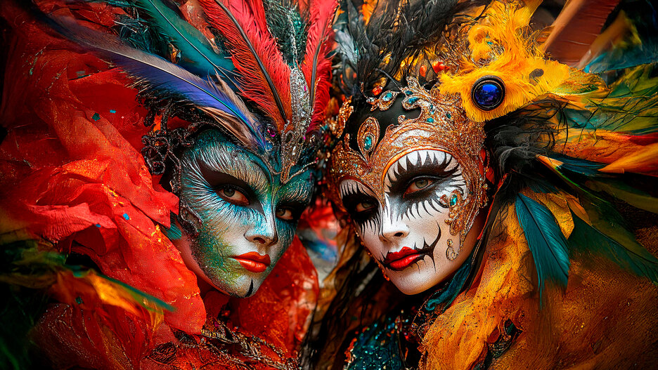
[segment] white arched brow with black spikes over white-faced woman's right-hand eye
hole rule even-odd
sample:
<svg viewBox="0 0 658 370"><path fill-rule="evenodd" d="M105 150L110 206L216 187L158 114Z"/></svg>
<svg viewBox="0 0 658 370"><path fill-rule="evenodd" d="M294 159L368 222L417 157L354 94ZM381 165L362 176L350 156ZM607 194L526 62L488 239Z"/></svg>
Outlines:
<svg viewBox="0 0 658 370"><path fill-rule="evenodd" d="M392 164L384 176L384 192L391 192L396 185L408 180L414 169L435 169L434 176L460 176L461 170L454 157L441 150L415 150Z"/></svg>

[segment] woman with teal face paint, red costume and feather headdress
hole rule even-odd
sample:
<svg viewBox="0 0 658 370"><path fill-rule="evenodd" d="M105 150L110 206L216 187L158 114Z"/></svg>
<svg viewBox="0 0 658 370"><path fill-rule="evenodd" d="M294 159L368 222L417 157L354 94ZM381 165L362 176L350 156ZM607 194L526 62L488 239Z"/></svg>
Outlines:
<svg viewBox="0 0 658 370"><path fill-rule="evenodd" d="M21 312L31 301L18 293L49 297L29 308L29 341L0 352L25 354L13 361L25 368L297 368L318 282L295 228L318 178L334 11L271 0L0 10L16 46L0 234L18 238L0 281ZM46 276L12 275L32 264Z"/></svg>

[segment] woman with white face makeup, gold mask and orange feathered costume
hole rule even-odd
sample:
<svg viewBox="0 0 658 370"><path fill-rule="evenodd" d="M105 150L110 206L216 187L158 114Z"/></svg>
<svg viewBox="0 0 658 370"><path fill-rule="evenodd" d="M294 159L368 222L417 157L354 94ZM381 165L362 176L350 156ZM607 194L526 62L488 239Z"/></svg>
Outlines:
<svg viewBox="0 0 658 370"><path fill-rule="evenodd" d="M578 6L533 33L540 2L342 4L327 182L344 255L310 368L346 350L347 369L654 366L655 55L607 85L565 64L618 67L565 39Z"/></svg>

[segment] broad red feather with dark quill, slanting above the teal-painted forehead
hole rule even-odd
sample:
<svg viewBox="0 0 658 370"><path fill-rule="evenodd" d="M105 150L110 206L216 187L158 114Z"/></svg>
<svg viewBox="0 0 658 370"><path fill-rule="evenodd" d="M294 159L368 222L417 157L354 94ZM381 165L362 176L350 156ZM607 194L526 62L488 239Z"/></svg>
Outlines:
<svg viewBox="0 0 658 370"><path fill-rule="evenodd" d="M228 41L231 60L240 73L241 93L273 119L279 131L282 130L285 126L285 117L280 114L274 94L279 96L286 116L290 117L290 67L286 65L276 40L266 27L262 3L241 0L222 1L247 35L257 57L264 65L264 71L228 14L214 0L199 2L212 27L221 32ZM269 75L275 91L269 87L265 74Z"/></svg>

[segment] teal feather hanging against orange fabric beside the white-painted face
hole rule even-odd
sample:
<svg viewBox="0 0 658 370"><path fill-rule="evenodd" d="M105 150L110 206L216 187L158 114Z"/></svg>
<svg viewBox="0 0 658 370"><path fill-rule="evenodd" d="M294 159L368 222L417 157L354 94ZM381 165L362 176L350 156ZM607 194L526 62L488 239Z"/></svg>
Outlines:
<svg viewBox="0 0 658 370"><path fill-rule="evenodd" d="M534 258L541 298L546 280L567 285L569 246L553 213L546 206L523 194L517 195L515 205L519 223Z"/></svg>

